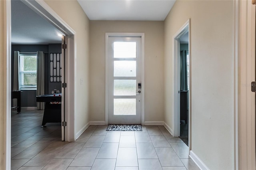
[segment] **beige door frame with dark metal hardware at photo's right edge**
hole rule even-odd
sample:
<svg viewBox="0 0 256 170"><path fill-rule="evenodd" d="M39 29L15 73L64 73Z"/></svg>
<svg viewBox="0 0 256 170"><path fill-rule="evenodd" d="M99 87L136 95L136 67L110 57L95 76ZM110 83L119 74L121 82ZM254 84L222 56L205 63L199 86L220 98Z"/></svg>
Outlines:
<svg viewBox="0 0 256 170"><path fill-rule="evenodd" d="M256 6L252 1L234 1L234 167L256 168L255 93L251 82L255 81L255 29Z"/></svg>

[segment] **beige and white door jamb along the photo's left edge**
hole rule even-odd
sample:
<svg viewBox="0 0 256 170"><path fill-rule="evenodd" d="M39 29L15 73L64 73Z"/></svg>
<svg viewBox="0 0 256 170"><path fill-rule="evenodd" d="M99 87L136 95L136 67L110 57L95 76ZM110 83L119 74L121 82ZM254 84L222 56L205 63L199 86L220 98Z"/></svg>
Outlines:
<svg viewBox="0 0 256 170"><path fill-rule="evenodd" d="M0 36L2 40L1 49L3 49L0 54L1 57L1 67L0 71L3 71L3 78L5 83L1 82L1 92L4 89L5 93L2 93L1 101L4 97L4 103L2 103L2 112L0 116L3 118L0 125L0 169L11 169L11 1L2 1L0 2L0 22L2 24L1 29L3 28ZM4 57L5 56L5 57Z"/></svg>

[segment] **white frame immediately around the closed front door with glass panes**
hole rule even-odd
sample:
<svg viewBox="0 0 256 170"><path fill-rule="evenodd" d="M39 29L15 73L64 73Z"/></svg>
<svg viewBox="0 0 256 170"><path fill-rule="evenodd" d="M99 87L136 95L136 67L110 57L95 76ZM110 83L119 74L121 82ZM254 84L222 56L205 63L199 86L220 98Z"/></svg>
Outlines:
<svg viewBox="0 0 256 170"><path fill-rule="evenodd" d="M108 38L109 37L140 37L141 38L141 125L145 122L145 57L144 57L144 33L109 33L105 34L105 125L108 125Z"/></svg>

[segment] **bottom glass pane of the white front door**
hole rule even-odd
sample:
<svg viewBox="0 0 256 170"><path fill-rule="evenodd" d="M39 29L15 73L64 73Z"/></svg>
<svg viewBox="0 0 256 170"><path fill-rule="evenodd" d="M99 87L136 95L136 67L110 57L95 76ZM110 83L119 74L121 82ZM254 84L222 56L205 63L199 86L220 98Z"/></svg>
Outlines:
<svg viewBox="0 0 256 170"><path fill-rule="evenodd" d="M136 115L136 99L114 99L114 115Z"/></svg>

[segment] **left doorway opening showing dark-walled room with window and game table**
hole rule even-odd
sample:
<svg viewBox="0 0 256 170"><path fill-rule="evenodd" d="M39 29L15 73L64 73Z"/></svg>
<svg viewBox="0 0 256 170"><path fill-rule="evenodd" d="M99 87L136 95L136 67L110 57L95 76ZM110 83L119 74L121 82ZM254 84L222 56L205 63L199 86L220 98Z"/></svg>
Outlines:
<svg viewBox="0 0 256 170"><path fill-rule="evenodd" d="M29 132L50 135L47 129L52 127L56 128L56 140L64 140L65 130L61 122L65 112L61 113L61 108L65 102L59 102L61 95L65 98L61 85L65 79L61 37L64 33L20 0L12 0L11 8L12 93L22 92L18 106L19 111L22 107L21 114L12 114L12 147L31 140L32 134L24 138L26 141L17 140ZM54 98L52 93L60 96ZM25 120L30 121L24 123Z"/></svg>

